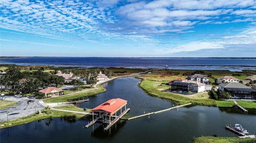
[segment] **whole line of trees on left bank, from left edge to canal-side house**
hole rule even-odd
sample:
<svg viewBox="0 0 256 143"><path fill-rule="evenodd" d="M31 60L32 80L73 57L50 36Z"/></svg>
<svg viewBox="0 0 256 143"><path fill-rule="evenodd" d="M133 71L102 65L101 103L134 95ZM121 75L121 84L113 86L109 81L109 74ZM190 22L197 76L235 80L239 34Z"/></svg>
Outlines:
<svg viewBox="0 0 256 143"><path fill-rule="evenodd" d="M65 84L64 77L55 75L58 71L43 72L43 70L21 72L18 66L10 66L6 70L6 74L0 77L0 89L2 90L5 87L5 90L8 90L11 95L16 94L18 91L28 94L45 86L59 87ZM99 69L61 70L62 73L73 73L74 77L85 79L86 84L91 86L98 82L99 71ZM103 69L102 73L108 77L113 75L113 72L107 69ZM84 85L84 82L81 79L75 78L69 84L78 89L78 87Z"/></svg>

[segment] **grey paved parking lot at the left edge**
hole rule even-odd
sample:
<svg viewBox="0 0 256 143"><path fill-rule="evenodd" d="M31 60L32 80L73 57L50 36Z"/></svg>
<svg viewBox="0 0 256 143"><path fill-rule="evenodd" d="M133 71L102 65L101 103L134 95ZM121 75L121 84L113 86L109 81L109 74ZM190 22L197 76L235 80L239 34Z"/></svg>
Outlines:
<svg viewBox="0 0 256 143"><path fill-rule="evenodd" d="M0 110L0 122L7 120L7 111L9 112L8 119L17 119L28 116L43 110L45 107L39 103L38 99L29 99L27 97L16 98L13 96L5 96L5 100L18 102L16 105ZM36 106L36 107L35 107ZM36 111L35 111L36 110Z"/></svg>

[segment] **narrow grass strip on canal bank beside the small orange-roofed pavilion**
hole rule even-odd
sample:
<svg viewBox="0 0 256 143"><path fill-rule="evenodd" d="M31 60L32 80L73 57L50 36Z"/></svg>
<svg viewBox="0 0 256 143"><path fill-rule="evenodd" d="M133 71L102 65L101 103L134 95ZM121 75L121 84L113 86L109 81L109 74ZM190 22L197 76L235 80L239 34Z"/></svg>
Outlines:
<svg viewBox="0 0 256 143"><path fill-rule="evenodd" d="M97 87L98 87L98 89L91 90L91 91L85 91L85 92L78 93L78 94L46 98L46 99L44 99L44 102L45 103L67 102L67 100L70 100L70 99L81 98L81 97L86 97L86 96L91 96L91 95L97 95L97 94L100 94L101 92L106 91L106 89L103 88L101 85L98 85Z"/></svg>

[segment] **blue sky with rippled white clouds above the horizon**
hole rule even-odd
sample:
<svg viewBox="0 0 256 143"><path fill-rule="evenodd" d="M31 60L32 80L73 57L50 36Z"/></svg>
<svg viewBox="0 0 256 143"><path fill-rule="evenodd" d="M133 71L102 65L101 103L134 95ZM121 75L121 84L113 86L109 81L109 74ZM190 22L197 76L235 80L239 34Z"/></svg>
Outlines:
<svg viewBox="0 0 256 143"><path fill-rule="evenodd" d="M256 57L255 0L0 1L1 56Z"/></svg>

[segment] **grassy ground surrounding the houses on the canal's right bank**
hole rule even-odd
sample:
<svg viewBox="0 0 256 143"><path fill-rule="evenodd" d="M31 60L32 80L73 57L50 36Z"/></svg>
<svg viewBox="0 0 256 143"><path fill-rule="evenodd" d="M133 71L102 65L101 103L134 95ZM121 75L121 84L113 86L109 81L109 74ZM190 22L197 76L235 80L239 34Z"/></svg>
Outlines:
<svg viewBox="0 0 256 143"><path fill-rule="evenodd" d="M209 95L204 92L202 94L194 94L194 95L180 95L180 94L173 94L171 92L167 92L166 89L169 89L170 86L166 85L170 80L183 77L186 78L187 76L182 75L189 71L186 70L165 70L165 71L154 71L150 74L145 74L141 77L142 79L140 83L140 87L148 92L148 94L157 96L159 98L170 99L177 104L186 104L192 103L194 105L204 105L204 106L219 106L219 107L233 107L235 106L234 102L227 101L227 100L213 100L210 99ZM205 74L218 75L222 77L223 75L232 75L234 72L230 71L204 71ZM239 73L241 77L246 77L247 74ZM240 77L240 78L241 78ZM238 101L241 102L241 105L245 108L256 108L255 102L247 102L247 101ZM240 104L240 103L239 103Z"/></svg>

